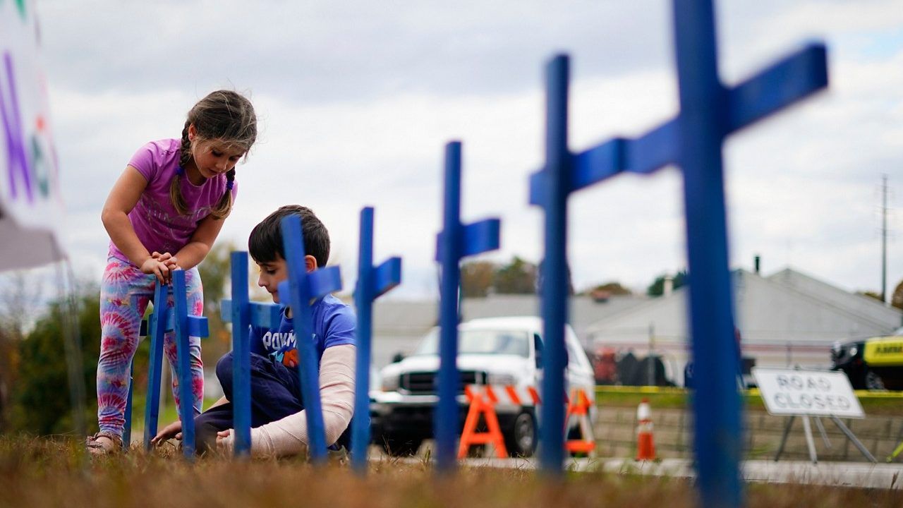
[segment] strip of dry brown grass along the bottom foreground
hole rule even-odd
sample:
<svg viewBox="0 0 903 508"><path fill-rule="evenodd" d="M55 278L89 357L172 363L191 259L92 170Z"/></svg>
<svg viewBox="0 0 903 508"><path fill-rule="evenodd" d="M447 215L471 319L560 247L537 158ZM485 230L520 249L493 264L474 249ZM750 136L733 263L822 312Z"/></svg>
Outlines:
<svg viewBox="0 0 903 508"><path fill-rule="evenodd" d="M461 468L436 475L427 462L375 461L360 478L347 465L314 468L302 460L185 463L174 450L90 460L73 441L0 437L0 507L5 506L329 506L496 508L501 506L694 506L684 480L568 474L546 481L532 471ZM900 506L891 491L799 485L749 485L748 505Z"/></svg>

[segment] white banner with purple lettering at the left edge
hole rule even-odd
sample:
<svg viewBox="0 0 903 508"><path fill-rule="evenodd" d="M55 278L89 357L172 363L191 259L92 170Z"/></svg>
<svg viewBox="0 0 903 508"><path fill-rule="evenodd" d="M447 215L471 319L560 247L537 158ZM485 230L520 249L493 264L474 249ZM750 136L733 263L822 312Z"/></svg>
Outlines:
<svg viewBox="0 0 903 508"><path fill-rule="evenodd" d="M62 202L33 2L0 0L0 270L60 259Z"/></svg>

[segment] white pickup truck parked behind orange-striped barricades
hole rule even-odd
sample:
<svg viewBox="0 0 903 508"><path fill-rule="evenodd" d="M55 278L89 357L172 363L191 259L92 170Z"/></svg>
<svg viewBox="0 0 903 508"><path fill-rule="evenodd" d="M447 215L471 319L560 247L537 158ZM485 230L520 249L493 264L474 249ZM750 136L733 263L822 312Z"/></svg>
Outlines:
<svg viewBox="0 0 903 508"><path fill-rule="evenodd" d="M464 386L512 387L519 392L541 390L543 321L534 316L474 319L458 326L458 369L461 388L460 428L467 415ZM579 388L593 400L592 367L571 326L565 327L568 392ZM373 442L392 456L414 455L424 439L433 437L433 409L438 401L439 329L427 334L417 349L401 362L379 373L379 390L371 392L370 419ZM536 447L537 408L498 404L496 413L505 447L511 456L531 456ZM595 405L591 420L595 419Z"/></svg>

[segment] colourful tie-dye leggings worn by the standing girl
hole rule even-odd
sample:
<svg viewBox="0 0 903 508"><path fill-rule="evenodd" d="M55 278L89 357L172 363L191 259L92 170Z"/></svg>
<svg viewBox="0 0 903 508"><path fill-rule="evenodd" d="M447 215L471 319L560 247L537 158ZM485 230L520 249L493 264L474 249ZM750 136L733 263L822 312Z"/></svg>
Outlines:
<svg viewBox="0 0 903 508"><path fill-rule="evenodd" d="M129 368L138 348L138 331L147 303L154 298L153 275L131 263L110 256L100 285L100 359L98 360L98 424L100 430L122 436L126 424ZM201 315L204 306L198 268L185 271L188 312ZM172 307L172 296L169 298ZM172 366L172 396L179 407L176 343L169 332L163 352ZM204 395L204 365L200 361L200 339L191 337L191 391L194 412L200 414Z"/></svg>

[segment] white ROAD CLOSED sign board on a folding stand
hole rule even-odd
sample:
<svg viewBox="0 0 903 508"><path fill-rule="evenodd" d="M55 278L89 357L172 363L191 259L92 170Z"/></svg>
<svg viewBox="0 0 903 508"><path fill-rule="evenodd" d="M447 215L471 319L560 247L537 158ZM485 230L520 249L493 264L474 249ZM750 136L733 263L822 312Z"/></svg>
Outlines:
<svg viewBox="0 0 903 508"><path fill-rule="evenodd" d="M843 372L754 368L752 375L770 414L865 418Z"/></svg>

